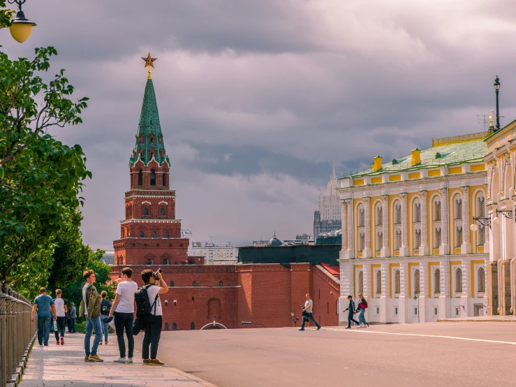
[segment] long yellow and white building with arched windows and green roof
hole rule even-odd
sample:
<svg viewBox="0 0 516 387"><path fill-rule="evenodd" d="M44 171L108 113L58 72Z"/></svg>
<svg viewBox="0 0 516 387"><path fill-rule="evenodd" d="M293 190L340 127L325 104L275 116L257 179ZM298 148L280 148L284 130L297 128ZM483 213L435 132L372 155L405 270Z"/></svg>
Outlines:
<svg viewBox="0 0 516 387"><path fill-rule="evenodd" d="M432 140L387 163L376 156L340 180L339 305L364 293L374 323L485 314L489 226L470 226L487 216L488 133Z"/></svg>

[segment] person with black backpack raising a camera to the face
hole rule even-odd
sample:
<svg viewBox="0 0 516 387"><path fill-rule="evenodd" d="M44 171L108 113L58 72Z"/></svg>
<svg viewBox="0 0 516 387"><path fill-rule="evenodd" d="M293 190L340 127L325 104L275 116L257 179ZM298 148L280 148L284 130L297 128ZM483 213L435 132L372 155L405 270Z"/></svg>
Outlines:
<svg viewBox="0 0 516 387"><path fill-rule="evenodd" d="M150 314L147 314L144 319L145 335L143 336L142 358L143 364L149 365L163 365L165 363L159 361L158 356L159 339L161 337L161 327L163 326L163 311L161 309L160 294L168 292L168 285L163 281L161 272L156 272L154 278L152 270L143 270L142 279L147 287L147 295L149 302L152 305ZM118 332L118 329L117 329ZM150 356L149 356L150 346Z"/></svg>

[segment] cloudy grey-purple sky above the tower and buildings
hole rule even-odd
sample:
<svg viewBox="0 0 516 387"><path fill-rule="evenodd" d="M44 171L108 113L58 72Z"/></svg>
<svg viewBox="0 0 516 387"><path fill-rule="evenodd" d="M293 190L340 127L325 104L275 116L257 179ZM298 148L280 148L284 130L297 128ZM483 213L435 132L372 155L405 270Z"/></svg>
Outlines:
<svg viewBox="0 0 516 387"><path fill-rule="evenodd" d="M84 242L112 249L124 218L150 51L177 217L193 240L248 244L311 233L337 173L432 138L516 118L516 7L508 0L28 0L37 22L10 57L53 45L89 96L52 133L87 154Z"/></svg>

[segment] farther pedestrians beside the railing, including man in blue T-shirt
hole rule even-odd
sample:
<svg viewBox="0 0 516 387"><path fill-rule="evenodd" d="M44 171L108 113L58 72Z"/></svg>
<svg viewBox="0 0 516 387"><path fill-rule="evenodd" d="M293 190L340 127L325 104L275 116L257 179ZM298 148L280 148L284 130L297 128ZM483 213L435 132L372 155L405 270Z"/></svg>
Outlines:
<svg viewBox="0 0 516 387"><path fill-rule="evenodd" d="M64 345L64 330L67 323L68 333L75 333L77 310L73 302L70 303L68 308L66 300L61 297L62 293L61 289L57 289L56 298L52 299L50 295L47 295L47 289L40 288L39 295L34 300L31 319L34 321L36 313L38 314L38 343L40 345L48 345L52 320L54 321L57 345ZM61 335L61 338L59 338L59 335Z"/></svg>

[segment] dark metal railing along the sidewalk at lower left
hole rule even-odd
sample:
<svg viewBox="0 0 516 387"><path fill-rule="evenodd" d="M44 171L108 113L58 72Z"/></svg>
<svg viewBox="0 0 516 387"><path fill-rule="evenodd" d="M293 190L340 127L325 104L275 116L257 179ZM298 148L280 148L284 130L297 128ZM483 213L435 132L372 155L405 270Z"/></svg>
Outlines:
<svg viewBox="0 0 516 387"><path fill-rule="evenodd" d="M32 305L20 293L0 288L0 387L20 381L38 323L31 321Z"/></svg>

